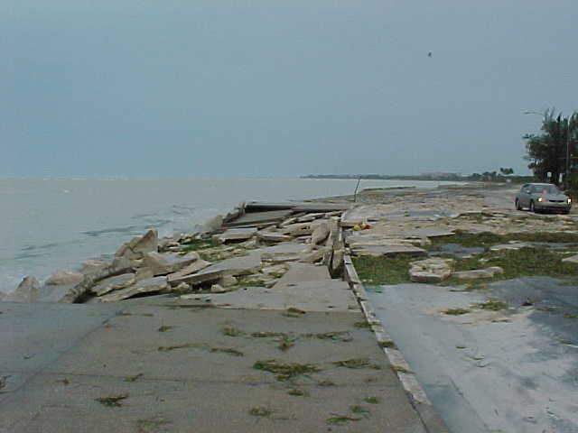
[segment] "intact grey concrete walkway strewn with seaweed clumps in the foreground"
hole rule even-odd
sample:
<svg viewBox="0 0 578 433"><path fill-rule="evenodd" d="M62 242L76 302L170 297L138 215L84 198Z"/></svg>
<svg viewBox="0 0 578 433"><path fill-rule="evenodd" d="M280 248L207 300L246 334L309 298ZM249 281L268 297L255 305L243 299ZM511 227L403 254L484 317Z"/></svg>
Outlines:
<svg viewBox="0 0 578 433"><path fill-rule="evenodd" d="M272 290L289 310L259 305L263 288L238 292L243 309L227 293L0 303L0 431L439 431L339 281L298 280Z"/></svg>

